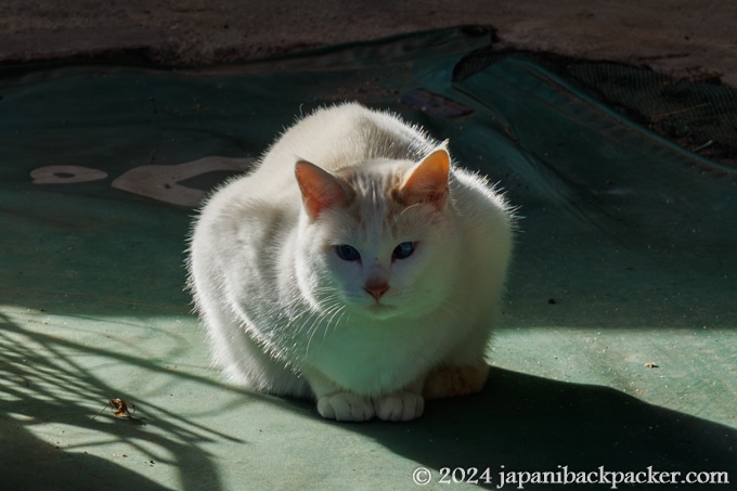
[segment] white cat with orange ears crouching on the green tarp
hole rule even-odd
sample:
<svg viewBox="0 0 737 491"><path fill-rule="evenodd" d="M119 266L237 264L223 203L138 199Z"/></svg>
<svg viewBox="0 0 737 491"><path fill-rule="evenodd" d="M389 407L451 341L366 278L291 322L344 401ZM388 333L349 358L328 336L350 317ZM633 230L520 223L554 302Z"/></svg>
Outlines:
<svg viewBox="0 0 737 491"><path fill-rule="evenodd" d="M233 382L327 418L413 419L484 384L512 218L444 143L342 104L211 196L189 284Z"/></svg>

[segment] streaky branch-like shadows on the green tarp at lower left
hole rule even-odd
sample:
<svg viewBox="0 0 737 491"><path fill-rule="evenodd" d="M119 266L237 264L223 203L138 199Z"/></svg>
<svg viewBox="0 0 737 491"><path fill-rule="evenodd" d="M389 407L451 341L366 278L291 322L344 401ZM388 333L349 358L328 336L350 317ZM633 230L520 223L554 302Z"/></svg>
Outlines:
<svg viewBox="0 0 737 491"><path fill-rule="evenodd" d="M125 442L145 455L146 466L174 466L179 489L205 483L219 489L215 463L203 445L235 439L150 402L144 414L155 413L155 419L137 413L118 418L109 409L95 416L111 397L135 398L117 388L115 380L87 370L80 361L90 357L130 371L161 370L140 357L24 330L0 314L3 488L171 489L126 468L130 465L117 464L128 455L111 454L115 448L108 445Z"/></svg>

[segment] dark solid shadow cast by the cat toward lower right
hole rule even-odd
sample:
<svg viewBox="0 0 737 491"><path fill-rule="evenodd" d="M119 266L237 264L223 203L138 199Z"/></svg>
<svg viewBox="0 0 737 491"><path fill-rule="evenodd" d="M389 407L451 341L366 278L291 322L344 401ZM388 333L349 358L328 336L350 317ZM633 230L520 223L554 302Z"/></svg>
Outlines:
<svg viewBox="0 0 737 491"><path fill-rule="evenodd" d="M488 487L494 489L500 470L557 471L563 466L586 473L602 466L611 471L652 466L680 471L681 478L691 470L719 470L737 478L734 428L611 388L502 369L492 369L481 393L428 401L417 421L349 426L428 467L436 481L442 467L490 468Z"/></svg>

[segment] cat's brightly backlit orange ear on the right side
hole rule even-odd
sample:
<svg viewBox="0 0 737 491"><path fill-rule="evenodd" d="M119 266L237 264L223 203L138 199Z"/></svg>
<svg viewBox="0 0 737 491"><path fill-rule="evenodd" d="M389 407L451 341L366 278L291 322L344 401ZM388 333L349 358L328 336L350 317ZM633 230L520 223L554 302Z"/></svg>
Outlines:
<svg viewBox="0 0 737 491"><path fill-rule="evenodd" d="M402 184L402 196L409 203L430 203L441 209L448 201L448 173L451 156L444 145L434 150L417 164Z"/></svg>

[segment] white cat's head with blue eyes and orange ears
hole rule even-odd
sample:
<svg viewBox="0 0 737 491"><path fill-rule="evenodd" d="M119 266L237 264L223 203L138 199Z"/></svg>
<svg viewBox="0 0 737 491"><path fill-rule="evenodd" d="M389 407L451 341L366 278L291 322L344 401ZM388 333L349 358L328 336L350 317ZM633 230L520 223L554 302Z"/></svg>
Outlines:
<svg viewBox="0 0 737 491"><path fill-rule="evenodd" d="M443 303L458 272L444 146L421 161L379 159L331 173L299 161L297 281L322 310L376 319Z"/></svg>

